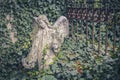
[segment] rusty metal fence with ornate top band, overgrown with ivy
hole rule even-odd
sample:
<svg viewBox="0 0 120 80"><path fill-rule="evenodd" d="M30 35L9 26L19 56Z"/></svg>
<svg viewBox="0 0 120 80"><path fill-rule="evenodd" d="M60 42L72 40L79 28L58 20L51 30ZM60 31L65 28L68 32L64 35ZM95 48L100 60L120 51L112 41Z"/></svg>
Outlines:
<svg viewBox="0 0 120 80"><path fill-rule="evenodd" d="M105 54L108 53L108 41L112 41L111 49L115 53L120 43L119 4L118 0L66 0L71 36L85 34L86 42L91 40L92 48L95 42L98 43L98 53L104 44Z"/></svg>

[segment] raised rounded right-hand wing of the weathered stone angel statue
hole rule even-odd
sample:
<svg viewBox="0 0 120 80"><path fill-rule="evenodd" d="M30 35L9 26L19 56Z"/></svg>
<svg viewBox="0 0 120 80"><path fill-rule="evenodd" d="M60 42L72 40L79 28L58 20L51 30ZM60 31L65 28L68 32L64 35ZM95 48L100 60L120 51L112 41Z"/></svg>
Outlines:
<svg viewBox="0 0 120 80"><path fill-rule="evenodd" d="M69 35L69 21L65 16L61 16L53 25L54 28L57 29L57 32L61 34L63 37Z"/></svg>

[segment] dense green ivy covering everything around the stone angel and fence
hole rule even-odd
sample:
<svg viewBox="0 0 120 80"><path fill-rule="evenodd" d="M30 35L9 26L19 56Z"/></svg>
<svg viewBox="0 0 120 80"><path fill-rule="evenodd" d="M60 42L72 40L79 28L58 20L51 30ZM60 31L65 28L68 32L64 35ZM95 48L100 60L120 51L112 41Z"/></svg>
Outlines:
<svg viewBox="0 0 120 80"><path fill-rule="evenodd" d="M75 1L82 2L82 0ZM68 6L74 6L72 3L74 3L73 0ZM99 4L96 3L95 7L98 6ZM58 57L54 59L55 62L48 69L38 71L35 67L28 70L22 66L21 59L29 53L32 46L33 17L45 14L51 22L54 22L60 15L65 15L65 7L64 0L4 0L2 4L0 3L0 80L120 80L120 49L116 50L116 54L110 51L110 56L105 56L102 52L98 54L97 49L92 49L91 40L88 40L86 45L84 34L74 34L72 38L67 38ZM5 20L8 14L13 16L13 22ZM118 24L119 20L118 16ZM17 32L18 41L14 44L9 37L10 30L6 28L8 22L13 24L13 31ZM79 24L83 23L79 22ZM91 38L91 23L89 26L88 37ZM103 24L100 27L101 37L105 37L106 29L109 30L109 46L113 44L114 27L112 26L106 28ZM96 25L96 33L98 28ZM80 25L78 30L80 32ZM119 28L117 32L120 32ZM119 35L117 33L116 37L119 38ZM98 34L95 35L94 42L96 46L98 46L97 36ZM120 41L116 40L119 47ZM103 50L105 49L104 41L105 38L102 38ZM46 53L46 49L43 52Z"/></svg>

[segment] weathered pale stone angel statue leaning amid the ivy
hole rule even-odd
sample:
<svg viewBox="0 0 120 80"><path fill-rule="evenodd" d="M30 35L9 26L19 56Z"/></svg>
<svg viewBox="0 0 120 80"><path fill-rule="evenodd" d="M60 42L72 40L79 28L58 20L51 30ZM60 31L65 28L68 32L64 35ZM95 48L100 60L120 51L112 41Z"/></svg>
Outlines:
<svg viewBox="0 0 120 80"><path fill-rule="evenodd" d="M69 34L69 23L66 17L61 16L51 25L45 15L34 17L34 24L38 31L34 36L32 48L26 58L22 59L23 66L33 68L38 62L39 70L53 62L55 54L59 52L64 38ZM45 63L42 62L45 60Z"/></svg>

